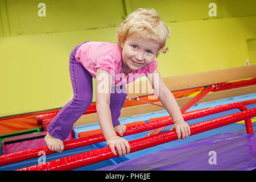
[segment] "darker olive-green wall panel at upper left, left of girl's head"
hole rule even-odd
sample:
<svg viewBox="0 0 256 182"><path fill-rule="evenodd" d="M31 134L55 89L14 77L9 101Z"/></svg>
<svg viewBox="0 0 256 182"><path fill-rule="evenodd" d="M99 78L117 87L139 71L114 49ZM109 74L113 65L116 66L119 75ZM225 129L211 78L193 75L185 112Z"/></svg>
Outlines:
<svg viewBox="0 0 256 182"><path fill-rule="evenodd" d="M44 3L46 16L39 16ZM7 0L11 36L115 27L124 15L121 0Z"/></svg>

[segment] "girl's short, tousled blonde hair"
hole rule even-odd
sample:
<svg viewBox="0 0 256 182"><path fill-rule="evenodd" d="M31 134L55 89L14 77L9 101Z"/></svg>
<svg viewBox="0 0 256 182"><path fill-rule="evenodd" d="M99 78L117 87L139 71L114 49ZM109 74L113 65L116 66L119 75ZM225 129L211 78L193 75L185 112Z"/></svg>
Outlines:
<svg viewBox="0 0 256 182"><path fill-rule="evenodd" d="M128 15L118 28L117 45L121 48L121 43L133 35L155 41L160 45L159 52L166 53L166 39L170 38L170 34L171 29L160 20L154 9L138 9Z"/></svg>

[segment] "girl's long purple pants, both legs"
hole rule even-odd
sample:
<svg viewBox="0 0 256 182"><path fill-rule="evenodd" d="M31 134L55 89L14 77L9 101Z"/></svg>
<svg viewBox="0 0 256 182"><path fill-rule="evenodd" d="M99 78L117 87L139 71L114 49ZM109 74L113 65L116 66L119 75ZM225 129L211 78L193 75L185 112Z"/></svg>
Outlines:
<svg viewBox="0 0 256 182"><path fill-rule="evenodd" d="M65 140L68 137L73 128L73 124L85 113L86 109L88 109L92 103L92 76L82 64L75 59L76 51L82 44L79 44L73 49L69 58L69 73L74 96L72 100L59 111L47 127L47 131L52 137L61 140ZM110 95L110 111L114 127L120 124L118 119L126 96L126 93L111 93Z"/></svg>

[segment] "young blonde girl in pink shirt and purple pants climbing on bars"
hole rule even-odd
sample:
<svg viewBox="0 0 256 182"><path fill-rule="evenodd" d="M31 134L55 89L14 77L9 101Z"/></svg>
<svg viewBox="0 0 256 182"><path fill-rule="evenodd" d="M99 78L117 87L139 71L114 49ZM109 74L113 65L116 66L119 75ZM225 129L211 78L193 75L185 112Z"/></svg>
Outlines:
<svg viewBox="0 0 256 182"><path fill-rule="evenodd" d="M63 140L92 103L92 77L96 78L98 122L114 155L117 155L115 148L119 156L130 152L128 141L116 134L122 136L126 131L126 126L120 124L118 118L127 94L115 90L124 90L125 84L143 75L148 77L152 88L158 90L156 95L171 115L174 121L172 129L176 130L178 139L181 134L183 139L187 138L190 135L189 126L184 122L174 96L156 68L158 63L155 57L159 52L166 53L166 39L169 36L170 28L160 20L154 9L138 9L127 16L118 28L117 44L85 42L76 46L69 59L74 96L47 128L44 140L49 150L64 150ZM158 75L156 81L155 75ZM102 80L105 80L104 92Z"/></svg>

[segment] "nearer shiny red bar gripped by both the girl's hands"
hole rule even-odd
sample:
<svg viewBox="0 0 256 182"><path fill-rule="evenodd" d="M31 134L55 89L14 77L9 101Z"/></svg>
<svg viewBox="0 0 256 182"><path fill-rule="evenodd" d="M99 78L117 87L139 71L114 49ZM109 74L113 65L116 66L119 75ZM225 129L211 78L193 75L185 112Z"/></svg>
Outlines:
<svg viewBox="0 0 256 182"><path fill-rule="evenodd" d="M207 130L215 129L217 127L229 125L231 123L238 122L243 119L251 118L251 117L254 117L255 115L256 115L256 108L241 111L240 113L230 114L225 117L197 123L189 127L191 130L191 135L195 135ZM153 147L158 144L170 142L176 139L177 139L176 131L172 130L172 131L167 131L165 133L161 133L151 137L132 140L129 142L130 153L143 150L144 148ZM113 155L112 151L110 150L110 147L104 147L98 150L93 150L89 152L84 152L82 154L77 154L77 155L68 156L65 158L57 159L57 160L52 160L46 163L25 167L19 170L20 171L71 170L71 169L76 169L79 167L83 167L89 164L101 162L102 160L107 160L115 157L116 156Z"/></svg>

